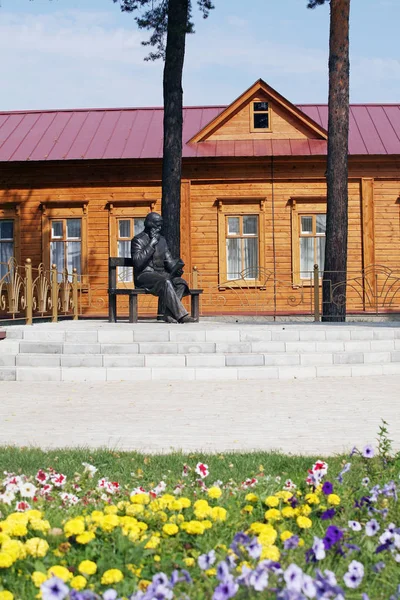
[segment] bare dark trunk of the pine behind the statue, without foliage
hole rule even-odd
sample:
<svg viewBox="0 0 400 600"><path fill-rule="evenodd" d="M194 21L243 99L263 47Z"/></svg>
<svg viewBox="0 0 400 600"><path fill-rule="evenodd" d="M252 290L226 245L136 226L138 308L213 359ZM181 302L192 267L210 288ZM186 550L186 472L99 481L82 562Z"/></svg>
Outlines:
<svg viewBox="0 0 400 600"><path fill-rule="evenodd" d="M180 256L182 174L182 72L189 0L169 0L164 65L164 146L161 212L172 256Z"/></svg>

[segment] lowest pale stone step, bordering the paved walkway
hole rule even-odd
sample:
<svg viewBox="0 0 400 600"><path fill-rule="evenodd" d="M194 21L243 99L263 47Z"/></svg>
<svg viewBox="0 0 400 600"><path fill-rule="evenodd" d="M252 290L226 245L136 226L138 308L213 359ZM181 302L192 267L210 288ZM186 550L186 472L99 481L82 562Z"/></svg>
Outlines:
<svg viewBox="0 0 400 600"><path fill-rule="evenodd" d="M260 367L0 367L0 380L16 381L138 381L308 379L400 375L400 364Z"/></svg>

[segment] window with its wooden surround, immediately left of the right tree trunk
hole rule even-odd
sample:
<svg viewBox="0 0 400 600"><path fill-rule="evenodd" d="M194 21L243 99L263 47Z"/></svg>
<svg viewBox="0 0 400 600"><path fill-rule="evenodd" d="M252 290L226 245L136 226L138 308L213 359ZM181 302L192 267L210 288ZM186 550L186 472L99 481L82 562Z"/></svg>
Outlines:
<svg viewBox="0 0 400 600"><path fill-rule="evenodd" d="M299 196L292 203L293 284L313 281L314 265L320 279L325 262L326 197Z"/></svg>

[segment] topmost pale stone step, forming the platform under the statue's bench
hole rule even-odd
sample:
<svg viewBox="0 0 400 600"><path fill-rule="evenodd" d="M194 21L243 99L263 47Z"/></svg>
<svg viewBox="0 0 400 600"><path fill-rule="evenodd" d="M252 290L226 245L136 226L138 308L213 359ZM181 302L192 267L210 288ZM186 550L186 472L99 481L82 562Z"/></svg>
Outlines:
<svg viewBox="0 0 400 600"><path fill-rule="evenodd" d="M96 327L97 325L97 327ZM6 327L7 340L70 344L134 344L134 343L323 343L379 342L400 340L399 326L351 324L286 324L244 325L216 323L185 326L156 323L42 323L33 327ZM2 344L3 344L2 343ZM1 345L2 345L1 344ZM318 351L318 350L317 350Z"/></svg>

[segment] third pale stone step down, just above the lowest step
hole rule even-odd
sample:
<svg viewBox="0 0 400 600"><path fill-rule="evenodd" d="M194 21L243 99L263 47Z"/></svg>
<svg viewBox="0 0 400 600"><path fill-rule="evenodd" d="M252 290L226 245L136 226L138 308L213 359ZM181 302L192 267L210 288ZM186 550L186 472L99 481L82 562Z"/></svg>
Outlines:
<svg viewBox="0 0 400 600"><path fill-rule="evenodd" d="M276 352L208 354L0 354L2 367L279 367L352 364L389 364L400 362L400 350L382 352Z"/></svg>

